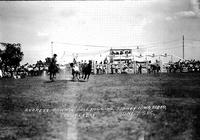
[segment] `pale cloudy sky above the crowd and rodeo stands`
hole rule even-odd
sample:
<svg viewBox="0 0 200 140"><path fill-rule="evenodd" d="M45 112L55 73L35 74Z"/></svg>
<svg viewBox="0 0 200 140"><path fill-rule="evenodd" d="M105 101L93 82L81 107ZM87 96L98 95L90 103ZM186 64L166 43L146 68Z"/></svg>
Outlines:
<svg viewBox="0 0 200 140"><path fill-rule="evenodd" d="M199 0L0 2L0 42L21 43L22 63L52 48L67 62L110 48L181 58L183 35L185 59L200 60Z"/></svg>

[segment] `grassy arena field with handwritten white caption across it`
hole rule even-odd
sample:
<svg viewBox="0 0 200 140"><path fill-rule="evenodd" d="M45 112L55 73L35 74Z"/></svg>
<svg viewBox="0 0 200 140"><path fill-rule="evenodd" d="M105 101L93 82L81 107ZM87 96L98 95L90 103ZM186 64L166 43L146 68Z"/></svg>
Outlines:
<svg viewBox="0 0 200 140"><path fill-rule="evenodd" d="M200 74L1 79L0 109L2 140L198 140Z"/></svg>

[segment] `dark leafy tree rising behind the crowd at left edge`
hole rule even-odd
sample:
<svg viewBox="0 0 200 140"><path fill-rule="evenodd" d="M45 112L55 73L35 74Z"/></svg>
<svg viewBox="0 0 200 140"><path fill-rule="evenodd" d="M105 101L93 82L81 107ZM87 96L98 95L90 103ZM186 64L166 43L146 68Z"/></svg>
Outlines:
<svg viewBox="0 0 200 140"><path fill-rule="evenodd" d="M2 67L5 71L8 71L8 68L14 68L16 70L24 56L21 51L21 44L1 43L1 45L5 47L4 50L0 50Z"/></svg>

